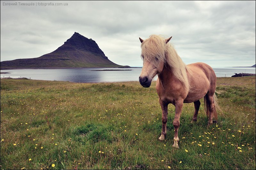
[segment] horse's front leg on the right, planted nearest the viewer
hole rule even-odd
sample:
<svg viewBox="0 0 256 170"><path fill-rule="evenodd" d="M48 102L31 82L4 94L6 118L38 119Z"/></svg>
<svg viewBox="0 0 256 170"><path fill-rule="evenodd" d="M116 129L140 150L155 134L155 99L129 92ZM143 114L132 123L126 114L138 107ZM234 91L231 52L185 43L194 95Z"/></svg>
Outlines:
<svg viewBox="0 0 256 170"><path fill-rule="evenodd" d="M173 143L173 147L179 148L179 137L178 137L178 131L179 131L179 127L180 127L180 114L181 114L181 110L182 110L182 106L183 106L183 100L179 100L176 101L174 103L175 105L175 116L174 116L174 120L173 120L173 126L174 126L174 143Z"/></svg>

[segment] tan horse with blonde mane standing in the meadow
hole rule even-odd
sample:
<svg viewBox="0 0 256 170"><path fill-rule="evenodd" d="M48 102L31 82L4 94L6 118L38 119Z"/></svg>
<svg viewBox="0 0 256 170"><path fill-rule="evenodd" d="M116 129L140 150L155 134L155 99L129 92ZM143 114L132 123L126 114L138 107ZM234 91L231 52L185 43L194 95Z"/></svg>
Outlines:
<svg viewBox="0 0 256 170"><path fill-rule="evenodd" d="M149 87L157 74L156 91L162 108L162 133L159 137L164 140L166 135L167 107L169 103L175 106L174 144L179 148L178 130L180 127L180 114L183 103L195 105L195 112L191 122L197 121L197 113L200 107L200 99L204 97L205 112L208 116L208 126L213 123L212 117L217 120L216 108L216 75L209 65L205 63L193 63L185 65L175 49L169 44L172 37L164 39L157 35L151 35L141 42L141 57L143 68L140 74L140 84Z"/></svg>

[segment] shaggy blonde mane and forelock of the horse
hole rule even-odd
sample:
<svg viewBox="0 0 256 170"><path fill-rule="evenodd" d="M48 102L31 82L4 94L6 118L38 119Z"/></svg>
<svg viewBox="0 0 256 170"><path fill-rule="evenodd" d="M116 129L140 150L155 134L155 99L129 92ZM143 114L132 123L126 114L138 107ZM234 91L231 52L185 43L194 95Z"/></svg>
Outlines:
<svg viewBox="0 0 256 170"><path fill-rule="evenodd" d="M179 80L185 89L190 90L187 72L188 67L181 60L176 50L169 43L165 43L162 36L150 35L141 43L141 57L157 67L159 61L169 65L173 76Z"/></svg>

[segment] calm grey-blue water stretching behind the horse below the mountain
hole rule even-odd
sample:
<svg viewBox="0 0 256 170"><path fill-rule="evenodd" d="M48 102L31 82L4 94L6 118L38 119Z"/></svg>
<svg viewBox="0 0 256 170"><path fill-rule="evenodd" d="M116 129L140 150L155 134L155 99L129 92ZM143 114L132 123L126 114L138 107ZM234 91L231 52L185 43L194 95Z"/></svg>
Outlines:
<svg viewBox="0 0 256 170"><path fill-rule="evenodd" d="M122 69L122 71L91 71L104 69ZM123 71L123 70L131 71ZM72 68L72 69L16 69L1 70L10 74L1 74L3 77L26 77L33 80L71 81L71 82L116 82L139 81L142 68ZM213 67L217 77L231 77L234 73L253 73L255 67ZM157 76L154 80L157 79Z"/></svg>

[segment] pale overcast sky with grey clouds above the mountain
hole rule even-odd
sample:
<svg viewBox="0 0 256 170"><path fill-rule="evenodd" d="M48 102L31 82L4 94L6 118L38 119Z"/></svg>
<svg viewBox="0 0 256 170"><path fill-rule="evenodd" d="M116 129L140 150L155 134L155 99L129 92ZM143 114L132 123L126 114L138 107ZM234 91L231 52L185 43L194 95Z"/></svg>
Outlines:
<svg viewBox="0 0 256 170"><path fill-rule="evenodd" d="M255 1L19 2L31 3L0 4L1 61L40 57L78 32L119 65L142 66L139 37L151 34L172 36L186 64L255 64ZM54 5L38 4L50 2Z"/></svg>

